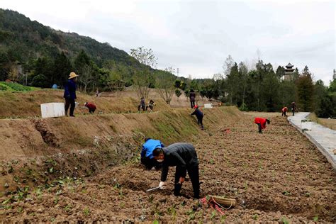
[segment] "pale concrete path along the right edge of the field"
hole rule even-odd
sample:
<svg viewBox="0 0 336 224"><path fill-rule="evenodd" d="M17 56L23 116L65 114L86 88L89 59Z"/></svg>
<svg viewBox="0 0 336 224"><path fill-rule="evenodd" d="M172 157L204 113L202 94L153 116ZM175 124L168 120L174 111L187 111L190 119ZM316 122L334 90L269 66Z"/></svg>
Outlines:
<svg viewBox="0 0 336 224"><path fill-rule="evenodd" d="M291 125L302 131L301 120L306 119L308 115L308 112L300 112L287 119ZM318 150L325 155L327 160L332 164L332 167L336 170L336 155L333 152L336 150L336 131L325 128L325 126L319 125L318 123L311 122L311 130L304 130L303 134L318 147Z"/></svg>

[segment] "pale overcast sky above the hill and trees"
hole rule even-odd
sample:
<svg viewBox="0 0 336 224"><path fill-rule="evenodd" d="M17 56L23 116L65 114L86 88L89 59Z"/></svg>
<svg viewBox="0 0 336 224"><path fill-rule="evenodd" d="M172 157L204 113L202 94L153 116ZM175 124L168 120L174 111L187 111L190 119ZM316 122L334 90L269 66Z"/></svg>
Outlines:
<svg viewBox="0 0 336 224"><path fill-rule="evenodd" d="M228 55L252 68L305 65L328 85L336 69L336 1L0 0L56 30L86 35L125 52L144 46L157 68L212 78Z"/></svg>

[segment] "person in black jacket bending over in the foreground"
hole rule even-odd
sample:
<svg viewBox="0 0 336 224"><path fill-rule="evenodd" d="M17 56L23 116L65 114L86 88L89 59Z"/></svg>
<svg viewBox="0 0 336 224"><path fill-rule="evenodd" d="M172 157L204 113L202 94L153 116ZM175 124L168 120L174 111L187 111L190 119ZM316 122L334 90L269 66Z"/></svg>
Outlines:
<svg viewBox="0 0 336 224"><path fill-rule="evenodd" d="M176 167L174 195L180 195L179 192L188 171L194 189L194 198L199 198L198 159L193 145L174 143L168 147L155 149L153 156L157 159L157 162L162 162L159 189L164 189L164 185L166 185L169 167Z"/></svg>

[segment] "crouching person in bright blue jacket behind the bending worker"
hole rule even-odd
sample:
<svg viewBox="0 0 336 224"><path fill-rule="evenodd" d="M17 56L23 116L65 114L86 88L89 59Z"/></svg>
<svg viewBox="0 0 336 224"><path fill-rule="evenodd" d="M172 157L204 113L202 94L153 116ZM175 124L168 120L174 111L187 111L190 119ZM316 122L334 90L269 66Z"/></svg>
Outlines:
<svg viewBox="0 0 336 224"><path fill-rule="evenodd" d="M140 161L147 169L152 169L152 167L155 167L155 169L160 169L162 167L162 162L157 162L157 160L153 157L153 151L156 148L162 147L164 147L164 145L159 140L151 138L145 139L145 143L142 144Z"/></svg>

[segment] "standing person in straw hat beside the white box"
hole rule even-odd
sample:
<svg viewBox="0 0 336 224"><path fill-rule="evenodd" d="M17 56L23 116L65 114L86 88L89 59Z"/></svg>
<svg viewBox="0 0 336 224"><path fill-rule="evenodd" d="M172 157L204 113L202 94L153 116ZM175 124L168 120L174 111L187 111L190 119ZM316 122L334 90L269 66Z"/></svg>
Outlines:
<svg viewBox="0 0 336 224"><path fill-rule="evenodd" d="M64 98L65 98L65 116L67 116L67 111L69 109L70 106L70 114L69 116L74 117L74 100L77 99L76 96L76 89L77 89L77 85L76 85L76 79L77 79L78 75L74 72L71 72L69 74L69 78L67 80L67 83L65 84L65 94L64 94Z"/></svg>

